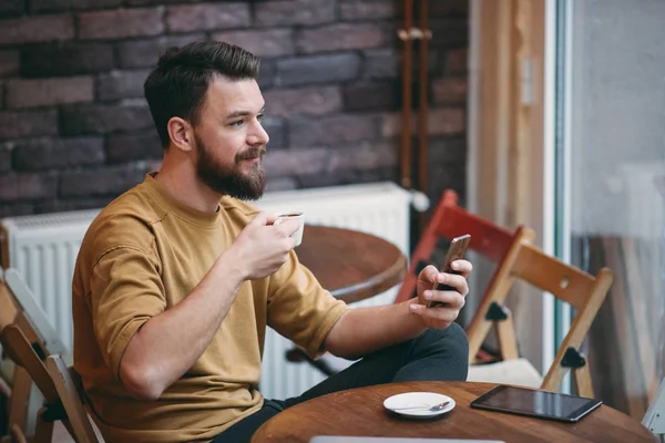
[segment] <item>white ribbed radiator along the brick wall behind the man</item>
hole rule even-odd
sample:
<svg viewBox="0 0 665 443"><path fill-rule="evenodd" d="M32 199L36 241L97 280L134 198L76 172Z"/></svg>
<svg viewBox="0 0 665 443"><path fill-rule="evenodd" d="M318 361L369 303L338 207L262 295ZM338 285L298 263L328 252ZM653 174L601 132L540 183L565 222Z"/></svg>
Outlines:
<svg viewBox="0 0 665 443"><path fill-rule="evenodd" d="M255 203L269 212L301 210L306 223L352 228L409 250L411 194L392 183L348 185L267 193ZM3 265L16 268L44 310L62 342L72 347L71 280L81 240L99 209L4 218ZM8 261L8 262L7 262ZM397 288L355 306L390 303ZM290 363L285 352L293 344L268 330L260 388L266 398L298 395L321 381L307 363Z"/></svg>

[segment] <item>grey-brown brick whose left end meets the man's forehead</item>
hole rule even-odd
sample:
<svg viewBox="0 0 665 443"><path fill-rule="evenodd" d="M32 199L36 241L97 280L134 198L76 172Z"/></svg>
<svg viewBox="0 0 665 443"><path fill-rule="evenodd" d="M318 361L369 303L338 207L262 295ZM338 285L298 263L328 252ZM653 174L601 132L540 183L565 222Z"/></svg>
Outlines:
<svg viewBox="0 0 665 443"><path fill-rule="evenodd" d="M266 91L264 99L270 116L320 115L341 110L341 94L337 86L273 90Z"/></svg>

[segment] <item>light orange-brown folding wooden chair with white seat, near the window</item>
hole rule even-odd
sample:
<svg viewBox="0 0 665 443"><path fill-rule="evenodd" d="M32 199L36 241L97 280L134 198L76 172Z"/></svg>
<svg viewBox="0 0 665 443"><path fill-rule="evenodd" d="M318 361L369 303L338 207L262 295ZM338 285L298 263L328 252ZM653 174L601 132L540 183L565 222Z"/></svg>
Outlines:
<svg viewBox="0 0 665 443"><path fill-rule="evenodd" d="M596 276L591 276L581 269L566 265L551 257L538 247L523 243L515 254L503 262L495 276L494 289L488 293L481 309L475 312L468 328L468 334L473 342L484 340L491 323L501 319L488 319L489 306L501 306L516 280L523 280L543 291L552 293L557 299L570 303L576 315L571 329L563 339L561 347L540 385L546 391L559 391L561 382L569 370L572 370L575 390L579 395L593 398L591 372L586 358L580 348L591 328L591 323L601 305L607 296L613 280L613 272L603 268ZM524 375L538 372L526 359L518 358L518 346L512 323L498 327L499 341L508 350L508 358L490 364L473 365L469 369L470 381L489 381L511 384L526 384L521 380ZM471 339L470 339L471 341Z"/></svg>

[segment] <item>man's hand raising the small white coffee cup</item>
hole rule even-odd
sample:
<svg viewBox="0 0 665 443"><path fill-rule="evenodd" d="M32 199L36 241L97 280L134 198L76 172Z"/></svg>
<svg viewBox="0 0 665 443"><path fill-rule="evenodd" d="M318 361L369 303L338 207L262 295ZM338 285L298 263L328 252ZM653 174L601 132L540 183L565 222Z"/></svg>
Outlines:
<svg viewBox="0 0 665 443"><path fill-rule="evenodd" d="M287 219L273 226L274 222L274 216L257 214L229 248L235 255L236 266L247 280L276 272L296 246L296 240L290 235L298 230L298 220Z"/></svg>

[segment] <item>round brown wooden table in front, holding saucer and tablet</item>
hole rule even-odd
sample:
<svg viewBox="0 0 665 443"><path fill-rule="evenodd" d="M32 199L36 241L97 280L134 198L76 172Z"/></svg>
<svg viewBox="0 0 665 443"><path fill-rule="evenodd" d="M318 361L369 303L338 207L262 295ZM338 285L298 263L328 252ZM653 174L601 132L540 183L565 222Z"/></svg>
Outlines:
<svg viewBox="0 0 665 443"><path fill-rule="evenodd" d="M655 442L642 423L601 405L577 423L560 423L471 409L470 403L494 383L389 383L335 392L285 410L254 434L252 443L308 443L315 435L410 436L521 442ZM456 408L431 420L401 418L383 408L390 395L429 391L451 396Z"/></svg>

